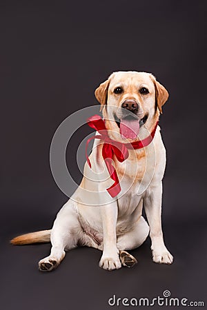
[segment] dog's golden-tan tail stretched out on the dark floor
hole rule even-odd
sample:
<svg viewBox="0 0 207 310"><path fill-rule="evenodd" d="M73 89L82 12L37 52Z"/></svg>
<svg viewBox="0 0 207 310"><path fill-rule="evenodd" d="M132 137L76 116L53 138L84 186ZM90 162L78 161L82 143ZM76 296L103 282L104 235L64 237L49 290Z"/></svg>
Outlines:
<svg viewBox="0 0 207 310"><path fill-rule="evenodd" d="M30 245L32 243L50 242L50 230L35 231L30 234L17 236L10 240L12 245Z"/></svg>

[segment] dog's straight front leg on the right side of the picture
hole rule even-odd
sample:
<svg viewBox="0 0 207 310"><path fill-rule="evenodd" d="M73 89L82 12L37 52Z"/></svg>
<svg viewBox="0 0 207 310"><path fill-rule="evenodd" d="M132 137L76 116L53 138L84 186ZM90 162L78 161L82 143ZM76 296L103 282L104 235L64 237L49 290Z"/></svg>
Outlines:
<svg viewBox="0 0 207 310"><path fill-rule="evenodd" d="M144 198L144 209L150 225L150 238L152 241L152 260L154 262L172 264L173 256L164 244L161 229L161 196L162 184L151 185Z"/></svg>

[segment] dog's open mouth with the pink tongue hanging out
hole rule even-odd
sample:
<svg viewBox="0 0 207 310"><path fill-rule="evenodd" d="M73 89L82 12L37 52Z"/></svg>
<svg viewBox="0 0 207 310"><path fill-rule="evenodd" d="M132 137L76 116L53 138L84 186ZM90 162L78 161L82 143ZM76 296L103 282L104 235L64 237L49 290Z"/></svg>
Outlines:
<svg viewBox="0 0 207 310"><path fill-rule="evenodd" d="M115 114L114 117L115 122L119 127L121 138L135 139L139 134L139 128L146 123L148 115L144 116L140 120L136 115L128 115L120 119Z"/></svg>

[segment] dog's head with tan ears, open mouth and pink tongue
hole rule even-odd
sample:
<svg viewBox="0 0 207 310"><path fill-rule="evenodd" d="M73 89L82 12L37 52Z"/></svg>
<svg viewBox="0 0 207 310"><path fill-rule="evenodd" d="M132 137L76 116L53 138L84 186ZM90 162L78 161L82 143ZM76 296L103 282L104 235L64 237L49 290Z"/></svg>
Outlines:
<svg viewBox="0 0 207 310"><path fill-rule="evenodd" d="M167 90L155 76L130 71L112 73L95 90L95 96L101 103L110 138L121 142L144 138L168 100Z"/></svg>

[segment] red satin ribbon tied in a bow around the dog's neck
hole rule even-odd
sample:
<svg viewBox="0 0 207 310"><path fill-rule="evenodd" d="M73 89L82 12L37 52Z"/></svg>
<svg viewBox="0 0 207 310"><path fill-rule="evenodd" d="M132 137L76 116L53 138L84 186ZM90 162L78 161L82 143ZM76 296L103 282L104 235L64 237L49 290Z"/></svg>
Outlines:
<svg viewBox="0 0 207 310"><path fill-rule="evenodd" d="M110 178L112 178L112 180L115 181L115 183L112 184L112 186L107 188L106 190L108 191L110 196L115 197L119 194L119 192L121 192L121 186L119 184L119 178L117 176L116 169L112 165L112 157L115 155L117 157L117 160L120 163L122 163L123 161L126 160L126 158L128 158L128 149L141 149L142 147L146 147L147 145L149 145L155 136L158 121L155 125L154 130L152 130L150 136L148 136L144 140L139 140L139 141L135 141L132 143L121 143L121 142L117 142L117 141L110 139L108 136L105 123L103 119L101 118L101 116L99 115L94 115L88 118L88 125L94 128L95 130L97 130L99 134L97 134L96 136L92 136L86 142L87 163L89 167L91 168L91 163L90 163L90 160L88 158L88 153L87 153L88 143L90 143L90 141L93 139L103 140L104 141L103 148L102 148L103 161L106 163L106 167L110 174Z"/></svg>

